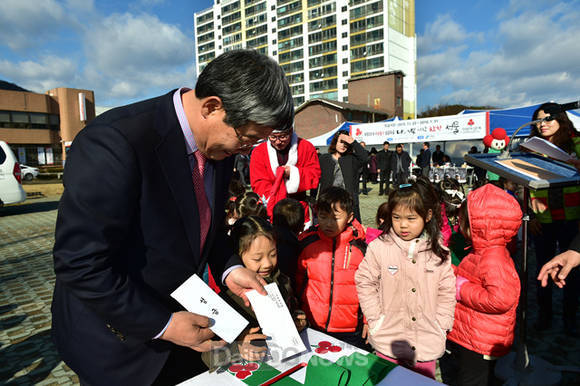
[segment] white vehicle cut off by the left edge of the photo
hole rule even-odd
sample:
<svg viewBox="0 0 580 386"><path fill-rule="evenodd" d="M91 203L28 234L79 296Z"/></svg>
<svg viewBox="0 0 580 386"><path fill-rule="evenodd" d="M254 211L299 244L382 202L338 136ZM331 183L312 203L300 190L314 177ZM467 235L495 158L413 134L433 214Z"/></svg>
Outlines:
<svg viewBox="0 0 580 386"><path fill-rule="evenodd" d="M12 149L6 142L0 141L0 206L26 200L21 182L20 165Z"/></svg>

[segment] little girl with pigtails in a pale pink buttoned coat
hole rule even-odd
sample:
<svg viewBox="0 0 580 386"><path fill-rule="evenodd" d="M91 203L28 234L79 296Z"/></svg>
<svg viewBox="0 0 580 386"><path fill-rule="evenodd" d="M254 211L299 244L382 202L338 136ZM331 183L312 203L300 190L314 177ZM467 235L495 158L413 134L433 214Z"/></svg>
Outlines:
<svg viewBox="0 0 580 386"><path fill-rule="evenodd" d="M391 194L383 233L369 244L355 282L377 355L435 378L453 326L455 276L429 189L418 181Z"/></svg>

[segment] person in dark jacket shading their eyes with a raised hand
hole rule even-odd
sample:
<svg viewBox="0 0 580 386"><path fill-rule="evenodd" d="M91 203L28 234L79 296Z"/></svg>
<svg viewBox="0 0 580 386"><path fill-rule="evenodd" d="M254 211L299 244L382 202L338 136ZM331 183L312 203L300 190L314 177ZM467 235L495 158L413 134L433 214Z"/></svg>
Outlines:
<svg viewBox="0 0 580 386"><path fill-rule="evenodd" d="M320 160L320 193L331 186L346 189L354 200L354 217L360 222L358 201L359 169L367 162L366 150L348 131L337 131L330 142L328 153Z"/></svg>

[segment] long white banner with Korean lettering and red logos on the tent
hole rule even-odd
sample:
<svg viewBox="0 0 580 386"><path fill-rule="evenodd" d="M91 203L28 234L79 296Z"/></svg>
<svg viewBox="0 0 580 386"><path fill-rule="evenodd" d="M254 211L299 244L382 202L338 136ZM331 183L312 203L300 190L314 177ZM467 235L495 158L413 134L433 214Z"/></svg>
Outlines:
<svg viewBox="0 0 580 386"><path fill-rule="evenodd" d="M351 126L351 135L367 144L458 141L482 139L487 134L487 113L363 123Z"/></svg>

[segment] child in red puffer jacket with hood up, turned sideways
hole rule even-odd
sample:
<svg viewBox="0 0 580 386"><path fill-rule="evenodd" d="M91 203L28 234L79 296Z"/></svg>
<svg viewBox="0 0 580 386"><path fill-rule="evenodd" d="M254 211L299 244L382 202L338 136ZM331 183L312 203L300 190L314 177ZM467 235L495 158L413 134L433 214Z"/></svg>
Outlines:
<svg viewBox="0 0 580 386"><path fill-rule="evenodd" d="M455 322L440 360L446 384L494 384L495 360L510 351L520 280L506 245L521 218L515 198L491 184L470 192L460 208L460 229L473 250L455 270Z"/></svg>

